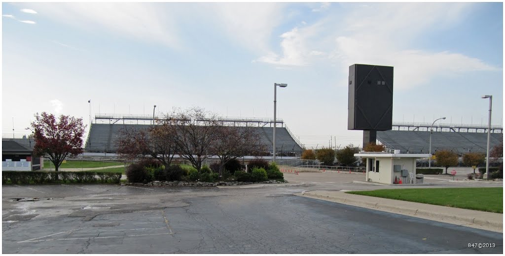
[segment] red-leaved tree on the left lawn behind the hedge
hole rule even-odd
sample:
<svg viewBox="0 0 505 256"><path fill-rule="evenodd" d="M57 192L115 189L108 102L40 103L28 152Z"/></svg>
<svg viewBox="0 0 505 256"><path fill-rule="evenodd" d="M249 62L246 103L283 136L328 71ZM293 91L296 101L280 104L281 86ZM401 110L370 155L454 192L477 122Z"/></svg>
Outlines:
<svg viewBox="0 0 505 256"><path fill-rule="evenodd" d="M33 154L44 156L55 165L55 170L62 164L66 157L76 156L83 152L82 136L86 126L82 118L60 115L59 120L55 115L42 112L35 114L35 121L30 129L35 140Z"/></svg>

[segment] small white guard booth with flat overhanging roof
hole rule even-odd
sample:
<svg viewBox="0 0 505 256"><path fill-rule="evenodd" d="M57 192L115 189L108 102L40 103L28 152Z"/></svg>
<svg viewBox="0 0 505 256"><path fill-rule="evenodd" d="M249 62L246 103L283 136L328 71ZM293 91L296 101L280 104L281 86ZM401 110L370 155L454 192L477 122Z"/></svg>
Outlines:
<svg viewBox="0 0 505 256"><path fill-rule="evenodd" d="M360 152L354 154L367 163L366 181L385 184L416 183L416 160L429 154L399 154L387 152Z"/></svg>

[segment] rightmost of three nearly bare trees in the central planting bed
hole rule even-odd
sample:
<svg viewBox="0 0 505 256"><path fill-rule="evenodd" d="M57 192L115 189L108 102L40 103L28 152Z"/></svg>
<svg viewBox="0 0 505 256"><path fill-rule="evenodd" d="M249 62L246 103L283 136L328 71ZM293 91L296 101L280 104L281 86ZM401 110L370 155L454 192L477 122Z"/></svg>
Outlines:
<svg viewBox="0 0 505 256"><path fill-rule="evenodd" d="M258 156L266 151L260 135L251 126L221 126L212 152L220 159L219 174L223 174L227 162L245 155Z"/></svg>

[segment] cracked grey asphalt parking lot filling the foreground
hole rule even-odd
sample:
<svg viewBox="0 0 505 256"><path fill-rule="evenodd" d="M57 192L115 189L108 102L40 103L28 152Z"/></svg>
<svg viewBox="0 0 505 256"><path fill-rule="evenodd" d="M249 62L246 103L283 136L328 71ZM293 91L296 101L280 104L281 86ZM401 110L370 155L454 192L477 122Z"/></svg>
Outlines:
<svg viewBox="0 0 505 256"><path fill-rule="evenodd" d="M353 183L360 174L285 176L290 183L248 188L5 185L2 252L501 253L503 250L502 233L293 196L305 190L383 188ZM453 183L456 182L438 182L431 187ZM468 248L470 242L494 243L494 247Z"/></svg>

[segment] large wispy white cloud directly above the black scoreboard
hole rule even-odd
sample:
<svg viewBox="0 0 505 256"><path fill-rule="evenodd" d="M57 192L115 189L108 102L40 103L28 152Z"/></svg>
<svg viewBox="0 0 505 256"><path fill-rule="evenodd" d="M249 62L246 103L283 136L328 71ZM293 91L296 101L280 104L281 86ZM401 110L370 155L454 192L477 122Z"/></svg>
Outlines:
<svg viewBox="0 0 505 256"><path fill-rule="evenodd" d="M394 66L395 88L412 88L439 76L461 72L498 71L461 53L415 49L424 31L448 27L464 18L468 4L382 4L360 8L346 17L345 36L336 36L330 58L342 69L354 63ZM356 19L357 17L366 17Z"/></svg>

